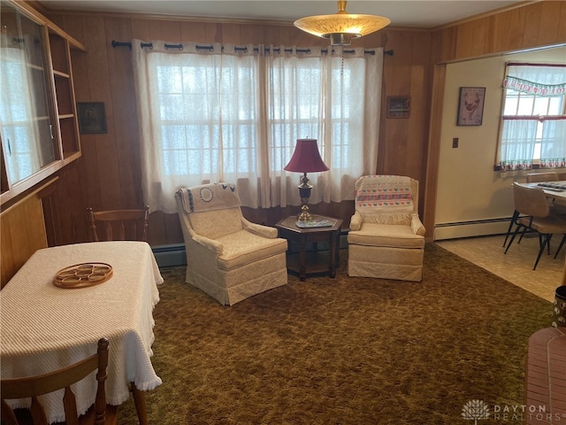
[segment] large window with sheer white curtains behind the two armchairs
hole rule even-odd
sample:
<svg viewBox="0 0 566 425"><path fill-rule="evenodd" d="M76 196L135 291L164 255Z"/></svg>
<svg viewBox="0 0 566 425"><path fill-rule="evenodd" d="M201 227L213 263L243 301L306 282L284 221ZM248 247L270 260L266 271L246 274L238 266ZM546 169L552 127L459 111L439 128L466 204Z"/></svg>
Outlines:
<svg viewBox="0 0 566 425"><path fill-rule="evenodd" d="M234 182L250 207L299 205L283 170L297 138L317 139L330 170L311 203L354 197L375 173L382 50L133 42L144 201L174 213L174 192Z"/></svg>

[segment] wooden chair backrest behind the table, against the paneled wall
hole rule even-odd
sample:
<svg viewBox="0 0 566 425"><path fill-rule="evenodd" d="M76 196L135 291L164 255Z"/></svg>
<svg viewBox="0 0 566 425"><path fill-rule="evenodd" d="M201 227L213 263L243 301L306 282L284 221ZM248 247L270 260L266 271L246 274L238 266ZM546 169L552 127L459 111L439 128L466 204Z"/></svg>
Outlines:
<svg viewBox="0 0 566 425"><path fill-rule="evenodd" d="M87 208L88 225L94 242L146 242L149 226L149 206L139 210L93 211Z"/></svg>

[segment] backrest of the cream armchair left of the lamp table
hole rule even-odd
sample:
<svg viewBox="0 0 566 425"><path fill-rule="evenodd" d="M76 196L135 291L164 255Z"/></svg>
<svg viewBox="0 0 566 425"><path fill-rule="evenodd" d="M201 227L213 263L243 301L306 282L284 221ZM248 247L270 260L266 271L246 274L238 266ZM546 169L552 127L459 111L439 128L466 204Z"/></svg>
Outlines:
<svg viewBox="0 0 566 425"><path fill-rule="evenodd" d="M177 190L180 213L197 235L216 239L243 228L241 202L235 185L209 183Z"/></svg>

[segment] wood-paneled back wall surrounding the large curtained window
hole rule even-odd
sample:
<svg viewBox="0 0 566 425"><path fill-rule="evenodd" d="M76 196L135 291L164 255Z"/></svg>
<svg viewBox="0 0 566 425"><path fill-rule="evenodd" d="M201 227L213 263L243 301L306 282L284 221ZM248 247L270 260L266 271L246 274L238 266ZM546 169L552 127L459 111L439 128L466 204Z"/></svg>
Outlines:
<svg viewBox="0 0 566 425"><path fill-rule="evenodd" d="M113 48L113 40L132 39L165 42L233 43L237 45L296 45L300 47L328 42L308 35L290 24L210 22L103 14L50 15L87 48L87 54L73 58L77 102L104 102L108 134L81 135L82 157L77 172L62 178L57 193L61 221L74 230L61 229L58 240L77 242L88 237L84 209L134 207L143 204L137 118L134 103L134 81L131 52L127 47ZM429 116L430 35L427 31L387 29L356 40L353 45L394 50L385 56L383 108L386 96L411 96L412 110L408 120L381 120L379 167L376 172L407 174L424 182L426 138ZM386 122L391 121L391 122ZM391 143L385 143L385 141ZM72 195L72 192L75 192ZM294 213L295 208L250 210L249 220L274 224ZM315 205L316 213L340 216L346 223L353 213L353 202L338 205ZM73 224L71 224L73 223ZM82 229L82 230L81 230ZM153 245L182 243L176 214L152 213L149 243Z"/></svg>

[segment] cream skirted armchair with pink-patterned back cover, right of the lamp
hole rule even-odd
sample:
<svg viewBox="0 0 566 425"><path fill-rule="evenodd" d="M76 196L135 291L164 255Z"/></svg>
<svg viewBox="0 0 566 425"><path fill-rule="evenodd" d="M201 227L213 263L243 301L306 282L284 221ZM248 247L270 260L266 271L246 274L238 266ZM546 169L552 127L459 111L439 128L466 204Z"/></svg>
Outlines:
<svg viewBox="0 0 566 425"><path fill-rule="evenodd" d="M424 226L418 182L400 175L356 181L356 212L348 232L348 275L420 282Z"/></svg>

